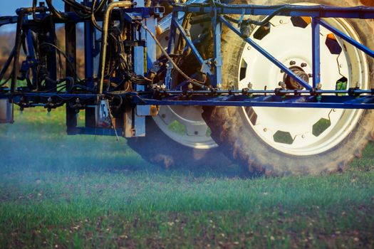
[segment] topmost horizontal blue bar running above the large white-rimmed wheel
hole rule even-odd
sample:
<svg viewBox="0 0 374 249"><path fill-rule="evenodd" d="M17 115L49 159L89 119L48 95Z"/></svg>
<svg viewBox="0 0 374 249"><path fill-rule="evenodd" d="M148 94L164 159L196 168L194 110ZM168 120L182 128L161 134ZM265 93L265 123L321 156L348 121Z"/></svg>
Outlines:
<svg viewBox="0 0 374 249"><path fill-rule="evenodd" d="M252 16L270 16L274 11L284 5L254 5L254 4L219 4L217 3L217 14L237 14ZM243 11L244 9L244 11ZM210 14L213 8L209 4L176 4L175 11L195 12L200 14ZM374 18L374 8L367 6L357 7L336 7L336 6L299 6L286 5L286 8L277 16L311 16L311 17L331 17L331 18Z"/></svg>

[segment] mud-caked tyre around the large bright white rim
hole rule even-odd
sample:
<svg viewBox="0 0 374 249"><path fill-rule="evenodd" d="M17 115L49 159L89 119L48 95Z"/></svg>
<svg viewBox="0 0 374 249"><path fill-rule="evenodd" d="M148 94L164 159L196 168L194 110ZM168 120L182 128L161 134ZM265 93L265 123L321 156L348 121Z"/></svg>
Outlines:
<svg viewBox="0 0 374 249"><path fill-rule="evenodd" d="M287 0L287 4L301 2L301 0ZM334 5L333 0L306 0L316 4ZM281 0L250 0L236 1L236 4L261 4L276 5L285 4ZM362 5L360 1L339 1L339 6ZM361 38L363 44L374 48L373 21L349 20L350 24ZM227 83L237 82L239 72L239 59L244 49L244 41L229 28L222 32L222 83L227 88ZM373 59L368 59L369 68L373 70ZM374 82L374 72L370 72L369 81ZM226 85L225 85L226 84ZM363 148L373 138L374 112L365 111L360 117L359 125L353 129L348 137L336 147L313 156L292 156L266 144L254 129L244 120L244 112L241 107L205 107L204 120L212 129L212 137L219 144L222 152L238 164L245 166L254 174L266 174L270 176L323 174L346 169L350 161L360 157Z"/></svg>

